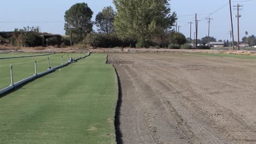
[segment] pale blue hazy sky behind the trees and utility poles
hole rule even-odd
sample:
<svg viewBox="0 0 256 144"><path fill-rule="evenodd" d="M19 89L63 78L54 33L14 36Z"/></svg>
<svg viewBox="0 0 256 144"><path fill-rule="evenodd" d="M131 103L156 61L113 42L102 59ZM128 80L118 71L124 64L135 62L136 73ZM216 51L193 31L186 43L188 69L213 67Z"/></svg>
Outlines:
<svg viewBox="0 0 256 144"><path fill-rule="evenodd" d="M85 2L94 11L94 17L104 7L111 5L114 7L112 0L8 0L1 2L1 19L0 31L14 31L14 28L23 28L24 26L38 26L41 32L49 32L54 34L65 34L64 14L73 4ZM210 17L211 28L210 36L227 40L229 39L229 31L231 29L229 0L171 0L170 8L175 11L178 16L179 29L186 37L190 37L190 25L188 22L194 22L194 15L197 13L199 21L198 38L201 39L208 35L208 22L205 17L213 13ZM256 35L255 15L256 0L241 0L239 4L243 5L240 10L240 39L248 35ZM224 6L225 5L225 6ZM237 5L237 0L232 1L232 6ZM222 8L222 9L220 9ZM237 40L237 19L235 17L237 11L232 10L234 24L234 38ZM187 16L188 15L188 16ZM195 25L192 25L192 38L194 38Z"/></svg>

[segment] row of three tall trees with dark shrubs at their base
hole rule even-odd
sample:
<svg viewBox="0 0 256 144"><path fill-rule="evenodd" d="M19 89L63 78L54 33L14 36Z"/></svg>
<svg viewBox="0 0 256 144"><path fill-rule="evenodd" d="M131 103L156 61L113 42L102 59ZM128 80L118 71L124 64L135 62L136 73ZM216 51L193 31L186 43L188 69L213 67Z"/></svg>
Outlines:
<svg viewBox="0 0 256 144"><path fill-rule="evenodd" d="M105 7L92 21L93 11L77 3L65 13L66 35L74 44L93 47L168 47L186 43L182 33L174 32L176 13L166 0L114 0L117 11ZM97 32L93 26L97 26Z"/></svg>

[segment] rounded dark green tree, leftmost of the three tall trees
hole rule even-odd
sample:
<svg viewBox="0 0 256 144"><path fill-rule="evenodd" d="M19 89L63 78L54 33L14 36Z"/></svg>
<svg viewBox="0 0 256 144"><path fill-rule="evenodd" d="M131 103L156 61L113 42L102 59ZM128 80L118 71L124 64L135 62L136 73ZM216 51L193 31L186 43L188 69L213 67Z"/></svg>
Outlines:
<svg viewBox="0 0 256 144"><path fill-rule="evenodd" d="M88 33L92 31L92 10L86 3L77 3L69 8L65 13L66 35L72 33L75 43L81 42Z"/></svg>

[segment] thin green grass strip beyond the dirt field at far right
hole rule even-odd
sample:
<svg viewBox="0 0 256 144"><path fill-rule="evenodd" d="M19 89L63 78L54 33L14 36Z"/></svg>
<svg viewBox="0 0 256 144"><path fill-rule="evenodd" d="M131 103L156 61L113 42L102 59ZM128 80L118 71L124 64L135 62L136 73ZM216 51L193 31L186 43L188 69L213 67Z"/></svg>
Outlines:
<svg viewBox="0 0 256 144"><path fill-rule="evenodd" d="M231 57L231 58L243 58L243 59L256 59L256 56L249 55L234 55L234 54L226 54L226 53L192 53L193 55L201 55L201 56L213 56L213 57Z"/></svg>

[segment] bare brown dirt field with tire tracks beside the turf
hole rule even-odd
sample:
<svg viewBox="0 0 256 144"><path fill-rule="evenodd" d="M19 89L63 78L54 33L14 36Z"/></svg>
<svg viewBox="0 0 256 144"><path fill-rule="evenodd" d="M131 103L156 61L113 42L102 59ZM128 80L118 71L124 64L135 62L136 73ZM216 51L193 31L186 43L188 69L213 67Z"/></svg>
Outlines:
<svg viewBox="0 0 256 144"><path fill-rule="evenodd" d="M118 143L256 143L256 61L113 53Z"/></svg>

